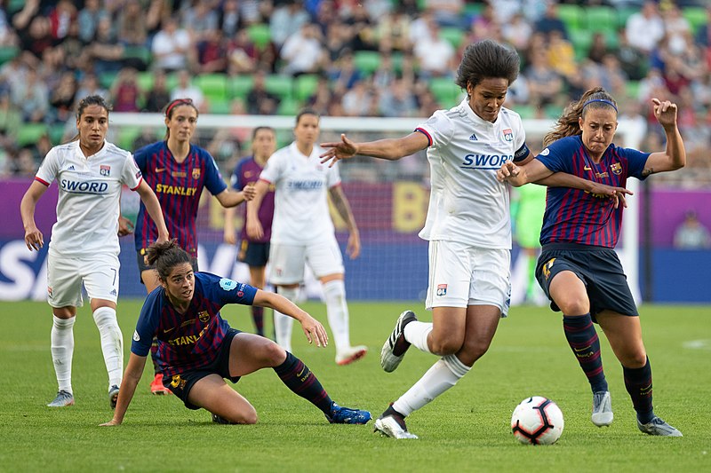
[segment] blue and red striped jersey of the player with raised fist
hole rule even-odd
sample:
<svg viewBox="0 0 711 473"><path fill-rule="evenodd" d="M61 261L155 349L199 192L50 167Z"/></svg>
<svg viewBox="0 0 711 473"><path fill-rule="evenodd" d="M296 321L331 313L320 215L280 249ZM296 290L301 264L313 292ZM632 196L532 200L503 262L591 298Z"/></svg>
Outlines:
<svg viewBox="0 0 711 473"><path fill-rule="evenodd" d="M590 159L579 135L561 138L536 159L554 172L567 172L606 185L625 187L627 177L642 180L649 153L608 146L599 163ZM579 243L615 248L622 224L622 206L607 195L568 187L548 187L540 243Z"/></svg>

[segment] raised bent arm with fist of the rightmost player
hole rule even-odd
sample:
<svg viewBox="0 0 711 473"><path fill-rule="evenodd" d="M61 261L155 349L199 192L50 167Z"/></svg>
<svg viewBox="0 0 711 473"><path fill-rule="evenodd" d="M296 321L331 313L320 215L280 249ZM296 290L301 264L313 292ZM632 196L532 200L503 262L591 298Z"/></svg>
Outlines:
<svg viewBox="0 0 711 473"><path fill-rule="evenodd" d="M644 163L643 176L649 176L655 172L681 169L686 165L686 150L683 146L682 135L676 126L676 104L668 100L660 102L659 99L651 99L651 101L654 103L654 116L667 135L667 149L663 152L650 154L647 162Z"/></svg>

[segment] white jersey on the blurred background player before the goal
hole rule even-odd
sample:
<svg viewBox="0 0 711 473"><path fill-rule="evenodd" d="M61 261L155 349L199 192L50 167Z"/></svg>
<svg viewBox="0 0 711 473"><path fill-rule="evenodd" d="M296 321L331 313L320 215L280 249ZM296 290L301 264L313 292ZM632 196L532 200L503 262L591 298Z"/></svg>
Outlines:
<svg viewBox="0 0 711 473"><path fill-rule="evenodd" d="M272 243L304 245L333 238L328 190L340 185L338 164L322 164L314 146L310 156L292 143L272 154L260 180L275 186Z"/></svg>

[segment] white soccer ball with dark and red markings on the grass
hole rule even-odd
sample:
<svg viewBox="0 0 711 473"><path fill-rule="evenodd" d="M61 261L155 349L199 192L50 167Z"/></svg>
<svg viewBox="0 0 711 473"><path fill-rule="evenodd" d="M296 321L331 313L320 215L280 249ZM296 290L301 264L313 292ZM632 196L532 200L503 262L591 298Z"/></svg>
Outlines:
<svg viewBox="0 0 711 473"><path fill-rule="evenodd" d="M511 416L511 430L522 444L555 444L563 433L563 412L548 398L523 399Z"/></svg>

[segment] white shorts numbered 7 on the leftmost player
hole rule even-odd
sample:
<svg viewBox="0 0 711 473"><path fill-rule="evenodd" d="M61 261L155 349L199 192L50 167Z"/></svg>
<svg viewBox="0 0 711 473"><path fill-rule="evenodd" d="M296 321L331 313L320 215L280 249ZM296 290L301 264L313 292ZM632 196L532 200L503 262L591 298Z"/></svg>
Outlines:
<svg viewBox="0 0 711 473"><path fill-rule="evenodd" d="M82 283L89 299L118 298L118 256L47 256L47 302L52 307L81 307Z"/></svg>

